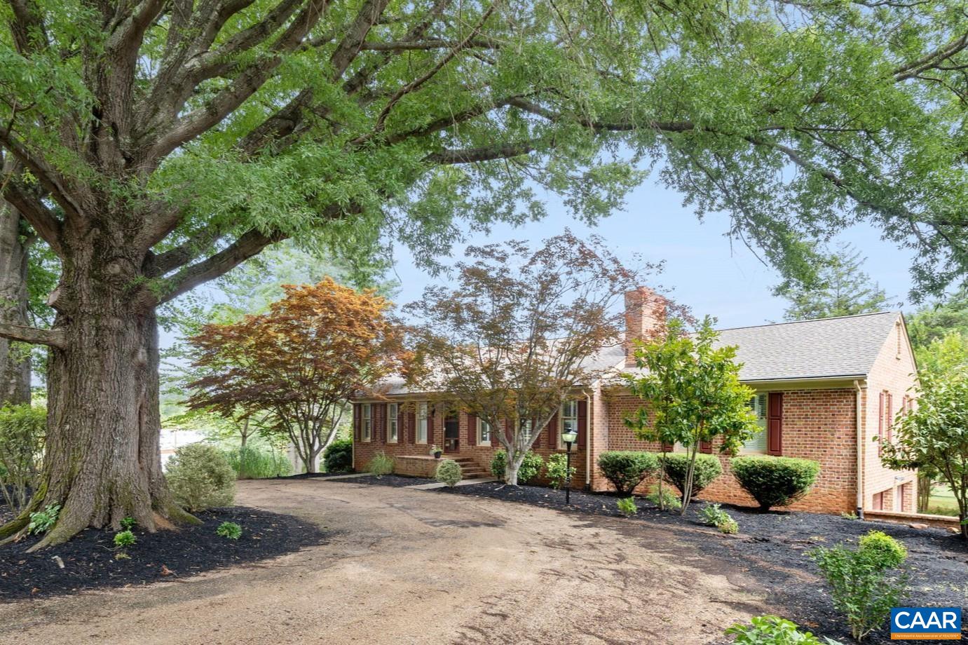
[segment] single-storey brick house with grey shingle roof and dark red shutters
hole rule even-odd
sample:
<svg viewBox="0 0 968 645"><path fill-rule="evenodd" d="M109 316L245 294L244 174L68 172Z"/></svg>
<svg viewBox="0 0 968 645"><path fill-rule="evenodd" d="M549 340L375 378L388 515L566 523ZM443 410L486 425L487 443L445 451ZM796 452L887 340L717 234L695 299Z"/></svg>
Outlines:
<svg viewBox="0 0 968 645"><path fill-rule="evenodd" d="M645 337L656 323L648 288L625 297L626 342L604 348L590 360L606 366L603 378L576 388L575 398L542 431L534 451L547 458L562 451L561 428L578 428L572 463L575 487L607 490L594 467L606 450L658 450L637 440L623 418L642 401L622 386L620 375L634 373L630 341ZM658 309L661 311L661 308ZM897 412L913 405L914 353L904 318L882 312L796 323L763 324L720 330L719 343L736 345L741 380L756 390L750 400L761 431L742 454L783 455L820 462L813 489L794 508L818 512L857 509L914 512L917 479L881 466L874 437L890 441ZM388 381L380 394L353 401L353 466L364 470L378 452L394 458L402 475L432 476L436 466L430 445L458 460L466 476L483 475L499 449L496 433L472 415L437 411L426 393L409 391L402 381ZM714 446L705 451L716 452ZM730 475L702 492L703 499L753 505Z"/></svg>

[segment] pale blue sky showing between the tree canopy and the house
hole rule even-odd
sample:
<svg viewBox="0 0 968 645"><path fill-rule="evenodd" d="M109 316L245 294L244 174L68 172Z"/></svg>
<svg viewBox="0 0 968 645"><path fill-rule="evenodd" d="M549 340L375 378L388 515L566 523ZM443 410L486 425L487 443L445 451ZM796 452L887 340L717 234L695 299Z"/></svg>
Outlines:
<svg viewBox="0 0 968 645"><path fill-rule="evenodd" d="M688 305L697 316L715 316L719 327L735 327L780 321L784 300L771 295L779 278L741 243L724 236L729 220L711 214L700 223L694 212L681 205L681 196L651 180L640 186L620 212L588 227L573 220L548 198L550 216L519 228L499 226L491 234L475 234L471 243L528 239L538 242L566 227L576 234L596 232L620 258L639 253L646 261L665 261L660 283L672 296ZM867 257L864 270L883 287L894 302L907 300L911 256L867 226L844 230L838 239L849 241ZM465 244L455 244L458 253ZM456 255L456 254L455 254ZM395 249L396 275L401 290L396 301L419 298L434 278L414 266L406 248Z"/></svg>

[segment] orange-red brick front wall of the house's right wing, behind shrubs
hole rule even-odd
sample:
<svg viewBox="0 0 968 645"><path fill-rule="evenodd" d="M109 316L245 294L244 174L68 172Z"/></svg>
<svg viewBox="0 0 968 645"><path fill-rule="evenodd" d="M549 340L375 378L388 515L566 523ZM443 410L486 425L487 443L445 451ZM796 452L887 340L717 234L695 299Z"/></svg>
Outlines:
<svg viewBox="0 0 968 645"><path fill-rule="evenodd" d="M613 394L608 398L609 449L658 450L656 444L637 440L622 421L638 410L640 404L638 398L628 394ZM856 442L854 390L784 390L783 455L820 462L817 482L810 493L791 508L839 513L855 507ZM723 474L699 498L755 506L732 475L729 457L720 456L719 460ZM595 490L607 490L609 484L596 470L592 486ZM648 487L646 484L637 492L648 492Z"/></svg>

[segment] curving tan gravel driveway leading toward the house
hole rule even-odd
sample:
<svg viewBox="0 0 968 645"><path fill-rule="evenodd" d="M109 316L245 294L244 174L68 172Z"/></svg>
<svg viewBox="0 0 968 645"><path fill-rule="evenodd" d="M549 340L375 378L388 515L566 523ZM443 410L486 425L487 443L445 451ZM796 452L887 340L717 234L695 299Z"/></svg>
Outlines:
<svg viewBox="0 0 968 645"><path fill-rule="evenodd" d="M706 643L764 591L676 533L406 488L239 485L328 543L148 587L0 605L0 643Z"/></svg>

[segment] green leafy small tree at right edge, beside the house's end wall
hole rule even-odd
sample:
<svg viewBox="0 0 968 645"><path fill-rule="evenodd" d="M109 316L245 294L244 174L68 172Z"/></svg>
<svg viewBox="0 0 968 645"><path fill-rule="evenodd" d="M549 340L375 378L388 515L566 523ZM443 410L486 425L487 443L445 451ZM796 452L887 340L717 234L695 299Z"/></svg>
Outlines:
<svg viewBox="0 0 968 645"><path fill-rule="evenodd" d="M925 372L919 381L918 405L897 415L896 438L881 444L881 461L893 470L927 470L948 483L961 537L968 539L968 368Z"/></svg>

